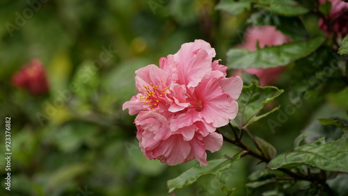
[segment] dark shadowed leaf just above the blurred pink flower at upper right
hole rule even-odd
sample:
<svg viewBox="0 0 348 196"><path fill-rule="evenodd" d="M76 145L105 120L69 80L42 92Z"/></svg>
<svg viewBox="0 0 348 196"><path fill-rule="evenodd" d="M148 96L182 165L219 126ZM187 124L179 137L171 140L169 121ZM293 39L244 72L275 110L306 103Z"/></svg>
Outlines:
<svg viewBox="0 0 348 196"><path fill-rule="evenodd" d="M308 38L305 26L298 17L283 17L269 11L253 13L248 22L254 26L276 26L278 31L292 38L292 41L304 41Z"/></svg>

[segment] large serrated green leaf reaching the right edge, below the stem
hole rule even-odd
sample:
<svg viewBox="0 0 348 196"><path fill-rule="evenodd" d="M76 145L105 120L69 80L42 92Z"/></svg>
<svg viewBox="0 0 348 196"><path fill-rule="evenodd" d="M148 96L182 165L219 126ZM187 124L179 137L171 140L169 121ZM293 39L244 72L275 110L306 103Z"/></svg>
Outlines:
<svg viewBox="0 0 348 196"><path fill-rule="evenodd" d="M315 142L296 147L292 152L279 154L267 165L276 170L295 165L312 165L313 167L333 172L348 172L348 137L325 142L325 138L319 138Z"/></svg>

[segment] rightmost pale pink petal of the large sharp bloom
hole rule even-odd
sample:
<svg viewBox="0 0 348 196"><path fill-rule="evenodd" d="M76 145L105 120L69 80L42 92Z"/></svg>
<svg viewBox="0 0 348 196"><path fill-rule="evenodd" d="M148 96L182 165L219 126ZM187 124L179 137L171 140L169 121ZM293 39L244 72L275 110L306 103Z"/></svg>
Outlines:
<svg viewBox="0 0 348 196"><path fill-rule="evenodd" d="M233 100L237 100L243 89L243 81L239 76L221 79L221 89L223 93L230 95Z"/></svg>

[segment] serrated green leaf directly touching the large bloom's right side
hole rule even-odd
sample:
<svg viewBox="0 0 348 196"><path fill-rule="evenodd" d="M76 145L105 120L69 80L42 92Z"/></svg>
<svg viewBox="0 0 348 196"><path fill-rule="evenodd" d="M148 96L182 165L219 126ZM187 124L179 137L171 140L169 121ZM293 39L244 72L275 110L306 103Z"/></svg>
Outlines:
<svg viewBox="0 0 348 196"><path fill-rule="evenodd" d="M258 115L262 108L278 97L284 90L279 90L274 86L260 87L252 82L251 85L244 86L241 95L238 98L239 109L235 122L237 122L240 129L249 124L260 120L262 117L277 111L278 107Z"/></svg>

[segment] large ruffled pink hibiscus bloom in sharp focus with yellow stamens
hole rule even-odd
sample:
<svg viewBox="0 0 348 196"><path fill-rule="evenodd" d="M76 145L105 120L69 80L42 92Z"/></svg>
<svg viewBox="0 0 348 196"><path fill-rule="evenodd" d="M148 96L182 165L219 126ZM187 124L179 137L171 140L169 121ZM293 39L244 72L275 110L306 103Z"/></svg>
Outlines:
<svg viewBox="0 0 348 196"><path fill-rule="evenodd" d="M226 78L227 67L212 58L215 50L203 40L182 44L159 67L136 70L139 93L123 104L135 119L141 151L148 159L177 165L197 159L208 165L206 150L223 143L217 127L235 118L243 82Z"/></svg>

